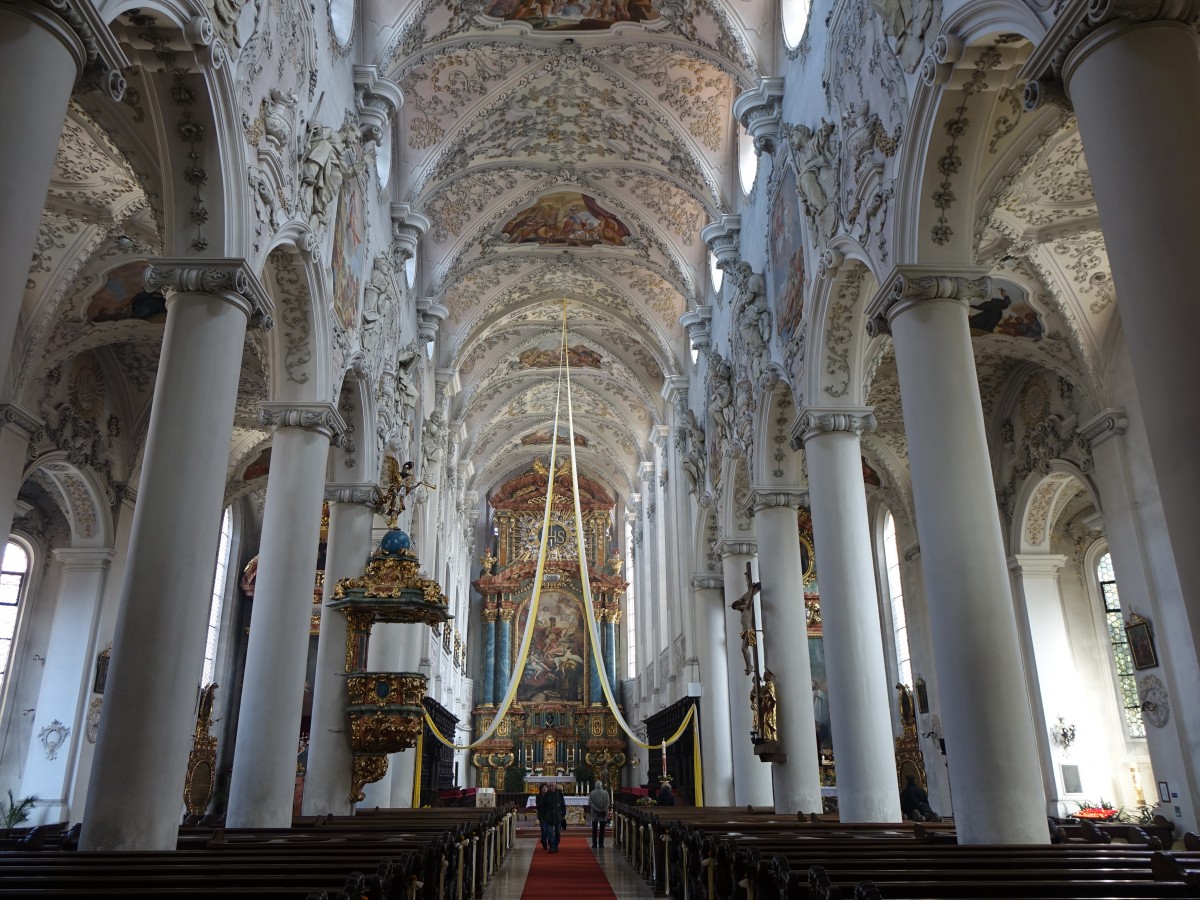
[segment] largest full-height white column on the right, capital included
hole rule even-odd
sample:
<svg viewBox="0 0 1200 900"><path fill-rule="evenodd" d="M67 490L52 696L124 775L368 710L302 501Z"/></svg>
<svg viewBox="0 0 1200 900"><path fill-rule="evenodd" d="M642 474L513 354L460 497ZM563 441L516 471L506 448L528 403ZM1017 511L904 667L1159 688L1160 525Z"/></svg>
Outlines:
<svg viewBox="0 0 1200 900"><path fill-rule="evenodd" d="M890 326L895 344L959 842L1045 844L1045 792L967 328L966 304L988 296L979 274L898 269L872 301L872 329Z"/></svg>

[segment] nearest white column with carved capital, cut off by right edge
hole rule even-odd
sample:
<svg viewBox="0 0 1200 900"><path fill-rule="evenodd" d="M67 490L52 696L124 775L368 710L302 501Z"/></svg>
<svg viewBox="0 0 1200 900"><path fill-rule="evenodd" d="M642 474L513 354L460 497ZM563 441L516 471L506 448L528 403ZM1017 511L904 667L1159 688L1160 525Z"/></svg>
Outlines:
<svg viewBox="0 0 1200 900"><path fill-rule="evenodd" d="M1072 16L1074 13L1074 16ZM1163 514L1200 659L1200 326L1195 146L1200 59L1190 4L1110 0L1060 13L1054 61L1079 119ZM1162 17L1162 18L1159 18ZM1162 19L1178 18L1180 22ZM1159 19L1159 20L1144 20ZM1072 46L1074 44L1074 46ZM1031 60L1032 62L1032 60Z"/></svg>

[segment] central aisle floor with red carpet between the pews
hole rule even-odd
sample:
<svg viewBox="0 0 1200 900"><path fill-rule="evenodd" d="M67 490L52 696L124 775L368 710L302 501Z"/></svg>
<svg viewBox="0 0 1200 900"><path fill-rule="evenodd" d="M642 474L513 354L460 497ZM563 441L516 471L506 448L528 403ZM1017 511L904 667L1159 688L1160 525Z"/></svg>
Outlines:
<svg viewBox="0 0 1200 900"><path fill-rule="evenodd" d="M608 835L610 841L612 834ZM654 894L612 846L592 850L592 829L568 829L558 853L534 836L518 836L484 900L653 900Z"/></svg>

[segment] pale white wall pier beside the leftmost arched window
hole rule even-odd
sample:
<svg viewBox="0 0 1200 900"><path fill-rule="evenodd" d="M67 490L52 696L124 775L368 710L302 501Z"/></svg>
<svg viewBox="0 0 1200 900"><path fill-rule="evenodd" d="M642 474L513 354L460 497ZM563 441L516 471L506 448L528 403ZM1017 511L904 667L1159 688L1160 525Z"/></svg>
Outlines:
<svg viewBox="0 0 1200 900"><path fill-rule="evenodd" d="M46 650L46 673L34 712L34 733L20 780L24 797L38 798L38 814L46 822L68 822L78 817L82 798L71 797L71 784L88 714L100 620L100 600L113 551L55 550L61 565L59 599ZM38 733L47 727L67 728L54 751L42 744Z"/></svg>

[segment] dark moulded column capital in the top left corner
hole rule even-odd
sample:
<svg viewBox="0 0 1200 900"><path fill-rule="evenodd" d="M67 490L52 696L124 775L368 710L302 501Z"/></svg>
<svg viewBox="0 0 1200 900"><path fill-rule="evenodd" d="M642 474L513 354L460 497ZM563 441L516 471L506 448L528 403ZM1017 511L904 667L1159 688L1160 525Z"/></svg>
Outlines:
<svg viewBox="0 0 1200 900"><path fill-rule="evenodd" d="M2 6L52 31L74 56L77 89L101 90L119 101L125 95L130 61L90 0L4 0Z"/></svg>

